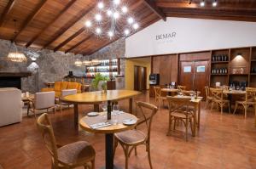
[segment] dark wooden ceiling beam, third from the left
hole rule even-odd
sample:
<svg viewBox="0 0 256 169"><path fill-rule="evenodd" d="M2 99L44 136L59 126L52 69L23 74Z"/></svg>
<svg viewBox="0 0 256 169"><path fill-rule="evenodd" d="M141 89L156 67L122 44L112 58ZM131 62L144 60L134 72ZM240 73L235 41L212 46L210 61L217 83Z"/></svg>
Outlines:
<svg viewBox="0 0 256 169"><path fill-rule="evenodd" d="M26 43L26 48L30 47L32 45L32 43L35 42L38 39L38 37L41 37L43 35L44 31L46 31L49 28L50 25L55 23L55 21L58 20L61 17L62 14L66 13L67 9L70 8L73 5L73 3L75 3L76 1L77 0L72 0L69 3L67 3L66 7L61 10L61 12L55 17L54 20L51 20L51 22L48 25L46 25L44 27L44 29L41 30L35 37L33 37L30 42Z"/></svg>

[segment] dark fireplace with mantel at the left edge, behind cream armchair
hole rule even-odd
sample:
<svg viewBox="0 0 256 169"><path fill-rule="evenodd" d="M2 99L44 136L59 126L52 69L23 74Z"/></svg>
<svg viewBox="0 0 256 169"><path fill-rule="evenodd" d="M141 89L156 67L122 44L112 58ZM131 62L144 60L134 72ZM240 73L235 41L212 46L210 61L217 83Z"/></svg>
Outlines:
<svg viewBox="0 0 256 169"><path fill-rule="evenodd" d="M30 72L0 72L0 87L21 89L21 78L31 76Z"/></svg>

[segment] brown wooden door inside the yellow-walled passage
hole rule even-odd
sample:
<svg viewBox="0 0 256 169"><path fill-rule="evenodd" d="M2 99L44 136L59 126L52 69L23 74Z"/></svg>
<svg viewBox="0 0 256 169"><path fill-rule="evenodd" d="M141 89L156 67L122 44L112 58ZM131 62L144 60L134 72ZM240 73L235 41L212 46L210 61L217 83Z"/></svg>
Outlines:
<svg viewBox="0 0 256 169"><path fill-rule="evenodd" d="M147 90L147 68L134 66L134 90L145 92Z"/></svg>

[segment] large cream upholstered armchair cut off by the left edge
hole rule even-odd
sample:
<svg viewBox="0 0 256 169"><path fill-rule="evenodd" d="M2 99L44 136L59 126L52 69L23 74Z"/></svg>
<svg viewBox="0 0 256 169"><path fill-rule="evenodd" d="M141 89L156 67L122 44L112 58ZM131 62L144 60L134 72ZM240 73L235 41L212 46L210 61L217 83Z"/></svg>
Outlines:
<svg viewBox="0 0 256 169"><path fill-rule="evenodd" d="M19 89L0 88L0 127L22 121L22 105Z"/></svg>

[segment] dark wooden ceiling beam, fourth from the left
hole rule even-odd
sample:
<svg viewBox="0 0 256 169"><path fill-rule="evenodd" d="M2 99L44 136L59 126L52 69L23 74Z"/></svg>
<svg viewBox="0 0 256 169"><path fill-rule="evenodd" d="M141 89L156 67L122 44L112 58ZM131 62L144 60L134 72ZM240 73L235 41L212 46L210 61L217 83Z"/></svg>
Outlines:
<svg viewBox="0 0 256 169"><path fill-rule="evenodd" d="M47 42L44 45L44 48L47 48L52 42L55 42L56 39L58 39L59 37L61 37L61 35L63 35L69 28L71 28L73 25L75 25L79 20L81 20L82 18L84 18L84 16L88 13L90 13L90 11L95 8L95 2L93 4L91 4L92 6L90 8L85 8L83 10L83 12L79 13L78 16L76 16L73 20L71 20L70 22L68 22L67 25L64 25L60 31L58 31L57 33L55 33L55 36L53 38L51 38L49 40L49 42Z"/></svg>

